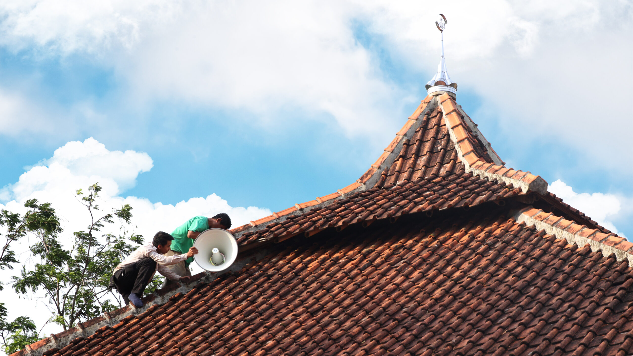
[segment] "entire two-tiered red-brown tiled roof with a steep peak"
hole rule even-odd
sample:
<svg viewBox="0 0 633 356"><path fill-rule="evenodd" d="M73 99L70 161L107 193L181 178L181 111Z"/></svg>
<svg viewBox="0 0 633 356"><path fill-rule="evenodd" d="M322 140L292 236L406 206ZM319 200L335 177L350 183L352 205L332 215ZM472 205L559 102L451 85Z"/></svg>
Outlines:
<svg viewBox="0 0 633 356"><path fill-rule="evenodd" d="M506 168L448 94L240 255L20 355L629 355L633 244Z"/></svg>

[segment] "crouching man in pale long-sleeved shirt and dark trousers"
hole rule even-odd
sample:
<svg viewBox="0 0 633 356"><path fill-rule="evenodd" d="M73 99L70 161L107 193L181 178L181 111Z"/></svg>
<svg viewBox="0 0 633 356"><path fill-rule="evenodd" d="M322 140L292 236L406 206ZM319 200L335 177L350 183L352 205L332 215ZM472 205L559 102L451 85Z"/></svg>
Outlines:
<svg viewBox="0 0 633 356"><path fill-rule="evenodd" d="M141 297L145 287L154 277L156 271L172 281L189 281L189 276L179 276L172 272L167 266L174 265L187 258L193 257L197 253L197 248L189 248L187 253L166 257L165 253L172 246L172 235L159 231L154 235L151 245L137 248L123 262L115 267L110 277L110 287L116 288L125 303L132 303L135 307L141 308L143 302Z"/></svg>

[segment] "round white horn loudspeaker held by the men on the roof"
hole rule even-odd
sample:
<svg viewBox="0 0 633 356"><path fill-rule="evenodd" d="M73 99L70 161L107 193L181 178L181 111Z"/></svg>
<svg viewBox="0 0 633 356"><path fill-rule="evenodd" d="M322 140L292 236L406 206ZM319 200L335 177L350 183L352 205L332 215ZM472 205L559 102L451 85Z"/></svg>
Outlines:
<svg viewBox="0 0 633 356"><path fill-rule="evenodd" d="M237 242L229 231L208 229L194 241L198 253L194 255L196 264L209 272L220 272L230 267L237 257Z"/></svg>

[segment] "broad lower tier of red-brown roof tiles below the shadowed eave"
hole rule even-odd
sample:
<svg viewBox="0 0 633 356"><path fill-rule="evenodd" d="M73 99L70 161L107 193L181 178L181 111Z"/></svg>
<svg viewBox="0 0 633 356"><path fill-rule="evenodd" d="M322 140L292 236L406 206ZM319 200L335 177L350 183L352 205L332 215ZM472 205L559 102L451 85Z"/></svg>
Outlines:
<svg viewBox="0 0 633 356"><path fill-rule="evenodd" d="M272 245L238 272L130 315L116 334L105 327L47 355L628 355L627 262L503 211ZM134 331L166 315L175 323Z"/></svg>

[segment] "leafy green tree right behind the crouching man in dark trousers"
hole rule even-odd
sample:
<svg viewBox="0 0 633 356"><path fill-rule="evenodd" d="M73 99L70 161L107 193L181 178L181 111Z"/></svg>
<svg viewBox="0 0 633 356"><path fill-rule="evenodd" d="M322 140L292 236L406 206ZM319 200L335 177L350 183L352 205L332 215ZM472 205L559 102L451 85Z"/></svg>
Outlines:
<svg viewBox="0 0 633 356"><path fill-rule="evenodd" d="M20 276L13 277L13 288L18 293L44 290L54 314L53 321L64 330L122 307L120 295L108 288L110 276L114 267L143 243L141 235L127 235L132 207L125 204L118 210L106 212L97 204L100 191L97 183L88 188L87 194L82 189L77 191L78 201L87 208L91 220L85 231L73 233L70 250L60 243L61 229L37 229L34 232L38 241L31 246L31 251L42 263L35 264L32 270L23 266ZM113 224L115 219L122 224L118 236L97 236L105 224ZM154 289L156 286L146 289L146 293Z"/></svg>

